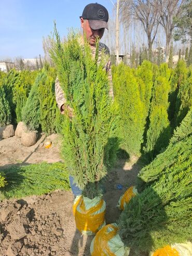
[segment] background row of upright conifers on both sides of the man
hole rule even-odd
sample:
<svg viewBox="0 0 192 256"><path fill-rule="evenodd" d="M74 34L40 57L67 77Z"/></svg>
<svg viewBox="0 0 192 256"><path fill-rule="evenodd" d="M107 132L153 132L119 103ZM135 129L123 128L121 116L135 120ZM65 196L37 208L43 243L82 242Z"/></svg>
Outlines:
<svg viewBox="0 0 192 256"><path fill-rule="evenodd" d="M175 69L144 61L136 69L121 63L112 71L121 147L130 156L152 159L166 148L191 105L192 68L184 60ZM59 132L55 79L48 64L40 71L0 72L0 126L23 121L30 130Z"/></svg>

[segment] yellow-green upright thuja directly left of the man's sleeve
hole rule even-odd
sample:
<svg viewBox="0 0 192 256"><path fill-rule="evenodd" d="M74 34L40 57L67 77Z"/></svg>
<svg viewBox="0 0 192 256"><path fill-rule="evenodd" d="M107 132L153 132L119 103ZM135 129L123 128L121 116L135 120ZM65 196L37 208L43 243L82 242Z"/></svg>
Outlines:
<svg viewBox="0 0 192 256"><path fill-rule="evenodd" d="M56 131L57 102L54 92L56 71L46 64L43 78L39 80L38 95L40 101L40 125L47 135Z"/></svg>

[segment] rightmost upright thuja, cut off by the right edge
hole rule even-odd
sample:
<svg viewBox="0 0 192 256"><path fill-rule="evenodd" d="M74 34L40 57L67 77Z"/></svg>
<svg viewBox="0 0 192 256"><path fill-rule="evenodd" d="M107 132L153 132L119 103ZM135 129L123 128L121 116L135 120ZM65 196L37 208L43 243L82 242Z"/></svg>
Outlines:
<svg viewBox="0 0 192 256"><path fill-rule="evenodd" d="M181 83L178 81L180 84L175 102L175 127L181 123L192 105L192 68L187 69L184 65L184 72L186 73L183 74Z"/></svg>

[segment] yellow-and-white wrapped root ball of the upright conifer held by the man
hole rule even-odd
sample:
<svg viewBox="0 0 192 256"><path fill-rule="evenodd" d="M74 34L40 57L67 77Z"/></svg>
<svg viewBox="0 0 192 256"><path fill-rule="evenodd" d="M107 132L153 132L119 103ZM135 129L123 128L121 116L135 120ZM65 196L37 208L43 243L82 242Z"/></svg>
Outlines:
<svg viewBox="0 0 192 256"><path fill-rule="evenodd" d="M94 235L105 225L106 204L101 197L77 196L73 213L77 229L84 235Z"/></svg>

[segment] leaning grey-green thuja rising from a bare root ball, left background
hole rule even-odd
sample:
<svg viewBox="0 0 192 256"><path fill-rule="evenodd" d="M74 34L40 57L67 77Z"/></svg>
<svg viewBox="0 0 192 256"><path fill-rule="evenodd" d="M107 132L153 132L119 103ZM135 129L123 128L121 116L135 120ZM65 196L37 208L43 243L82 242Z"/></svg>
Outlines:
<svg viewBox="0 0 192 256"><path fill-rule="evenodd" d="M45 74L43 72L39 72L35 82L31 88L30 94L26 103L22 109L22 121L28 127L29 130L37 130L40 124L40 101L38 88L39 83L42 79L44 79Z"/></svg>

